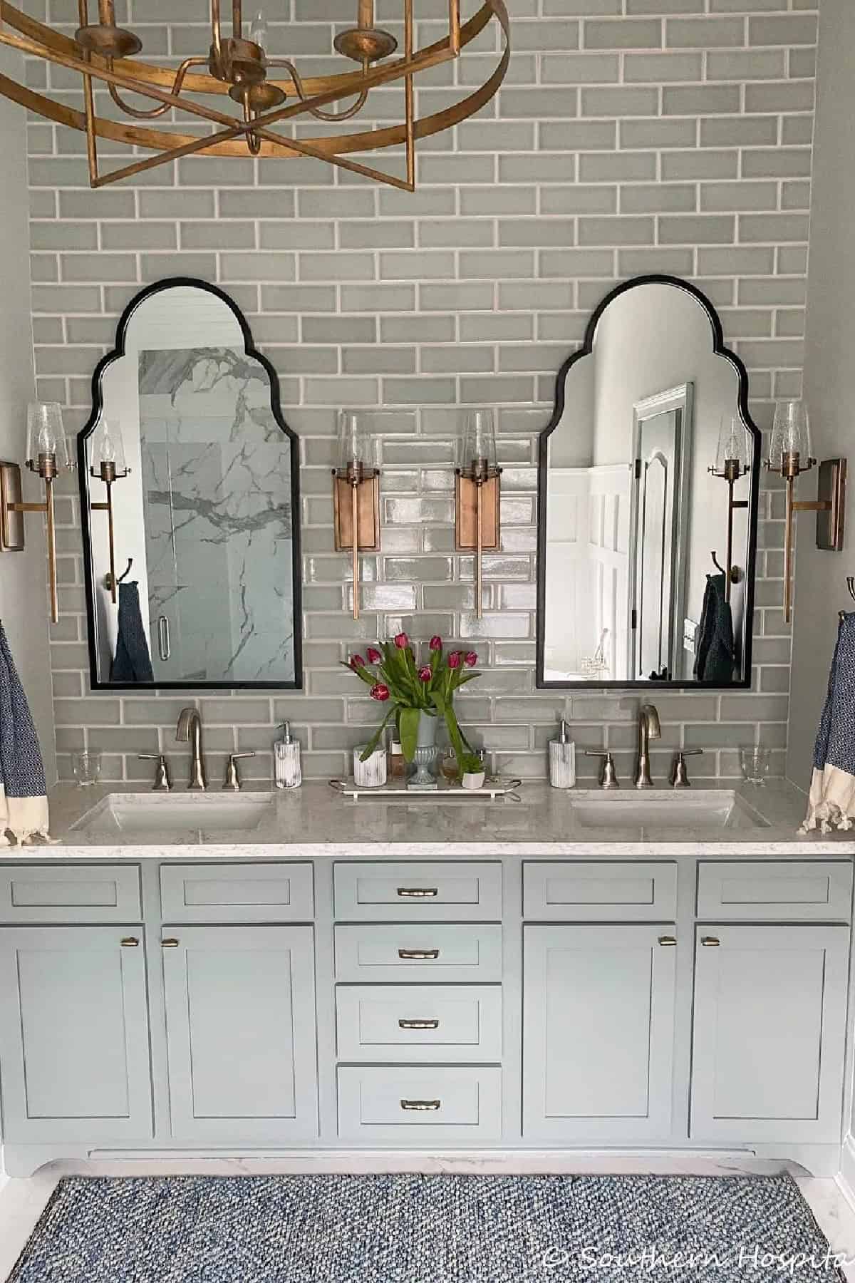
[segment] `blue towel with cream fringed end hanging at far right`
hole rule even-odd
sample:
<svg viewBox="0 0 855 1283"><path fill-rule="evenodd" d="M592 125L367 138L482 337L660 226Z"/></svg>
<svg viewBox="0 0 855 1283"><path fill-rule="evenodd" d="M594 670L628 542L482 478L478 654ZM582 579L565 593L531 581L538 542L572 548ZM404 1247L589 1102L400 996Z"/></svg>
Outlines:
<svg viewBox="0 0 855 1283"><path fill-rule="evenodd" d="M841 616L801 833L855 824L855 615Z"/></svg>

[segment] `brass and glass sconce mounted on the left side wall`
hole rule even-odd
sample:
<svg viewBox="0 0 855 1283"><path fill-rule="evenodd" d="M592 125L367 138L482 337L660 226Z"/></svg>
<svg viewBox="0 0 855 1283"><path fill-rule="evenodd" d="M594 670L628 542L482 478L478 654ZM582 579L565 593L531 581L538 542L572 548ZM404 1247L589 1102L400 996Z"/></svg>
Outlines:
<svg viewBox="0 0 855 1283"><path fill-rule="evenodd" d="M63 412L56 402L31 402L27 407L26 464L45 482L45 502L24 503L21 488L21 466L0 461L0 552L23 552L24 512L44 512L46 514L50 618L53 624L58 624L54 481L60 471L71 472L73 464L68 457Z"/></svg>

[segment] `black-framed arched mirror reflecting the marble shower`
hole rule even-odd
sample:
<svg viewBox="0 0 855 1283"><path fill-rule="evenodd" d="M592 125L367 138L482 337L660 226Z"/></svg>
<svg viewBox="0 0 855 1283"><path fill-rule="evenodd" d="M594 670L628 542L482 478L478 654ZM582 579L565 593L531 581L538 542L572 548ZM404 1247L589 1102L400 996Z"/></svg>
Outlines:
<svg viewBox="0 0 855 1283"><path fill-rule="evenodd" d="M132 299L77 453L92 686L301 686L297 439L226 294Z"/></svg>

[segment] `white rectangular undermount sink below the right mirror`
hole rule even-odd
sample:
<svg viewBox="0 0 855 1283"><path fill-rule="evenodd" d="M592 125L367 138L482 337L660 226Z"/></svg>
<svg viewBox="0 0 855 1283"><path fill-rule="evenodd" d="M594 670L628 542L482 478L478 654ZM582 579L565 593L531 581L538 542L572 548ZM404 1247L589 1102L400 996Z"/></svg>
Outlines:
<svg viewBox="0 0 855 1283"><path fill-rule="evenodd" d="M581 829L768 829L732 789L581 789L569 795Z"/></svg>

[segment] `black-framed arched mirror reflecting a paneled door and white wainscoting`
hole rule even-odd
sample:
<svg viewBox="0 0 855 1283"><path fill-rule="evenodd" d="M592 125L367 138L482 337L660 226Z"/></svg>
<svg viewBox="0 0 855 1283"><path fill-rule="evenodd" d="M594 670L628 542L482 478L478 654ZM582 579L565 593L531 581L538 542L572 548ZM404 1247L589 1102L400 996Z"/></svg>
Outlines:
<svg viewBox="0 0 855 1283"><path fill-rule="evenodd" d="M640 277L597 307L540 440L538 686L750 684L747 394L688 282Z"/></svg>

